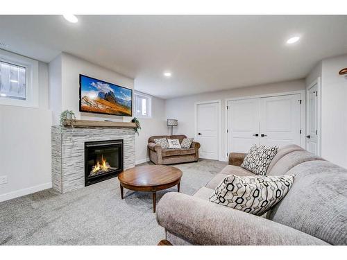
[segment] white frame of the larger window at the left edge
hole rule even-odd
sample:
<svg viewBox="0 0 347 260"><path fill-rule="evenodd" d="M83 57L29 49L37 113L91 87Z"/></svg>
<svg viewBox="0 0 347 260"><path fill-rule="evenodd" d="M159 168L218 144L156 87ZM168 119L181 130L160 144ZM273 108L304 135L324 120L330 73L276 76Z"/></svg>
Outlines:
<svg viewBox="0 0 347 260"><path fill-rule="evenodd" d="M6 98L0 96L0 105L15 105L19 107L38 107L38 78L39 78L39 62L22 55L10 53L0 49L0 60L10 64L14 64L26 69L26 99L20 100L15 98Z"/></svg>

